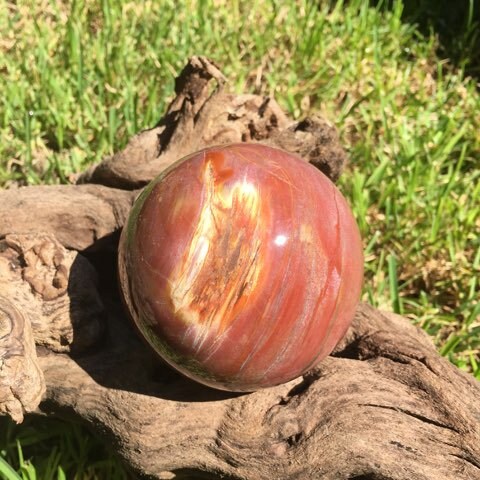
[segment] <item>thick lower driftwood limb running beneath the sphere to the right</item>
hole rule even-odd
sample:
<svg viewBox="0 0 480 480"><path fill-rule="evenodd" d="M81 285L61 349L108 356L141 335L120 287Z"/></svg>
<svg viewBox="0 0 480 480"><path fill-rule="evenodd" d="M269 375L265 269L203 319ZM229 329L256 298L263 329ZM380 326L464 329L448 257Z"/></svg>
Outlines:
<svg viewBox="0 0 480 480"><path fill-rule="evenodd" d="M157 363L109 311L109 348L41 358L45 405L87 419L138 474L480 478L479 385L403 318L361 305L334 356L307 375L228 395Z"/></svg>

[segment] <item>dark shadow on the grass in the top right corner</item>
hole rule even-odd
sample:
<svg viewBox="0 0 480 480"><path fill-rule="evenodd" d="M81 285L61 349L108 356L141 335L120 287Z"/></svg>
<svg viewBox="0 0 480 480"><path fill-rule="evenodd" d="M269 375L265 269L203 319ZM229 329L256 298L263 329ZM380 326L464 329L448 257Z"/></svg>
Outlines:
<svg viewBox="0 0 480 480"><path fill-rule="evenodd" d="M370 0L391 9L396 0ZM480 77L480 0L403 0L402 19L418 25L424 35L439 40L440 57L448 58L466 75Z"/></svg>

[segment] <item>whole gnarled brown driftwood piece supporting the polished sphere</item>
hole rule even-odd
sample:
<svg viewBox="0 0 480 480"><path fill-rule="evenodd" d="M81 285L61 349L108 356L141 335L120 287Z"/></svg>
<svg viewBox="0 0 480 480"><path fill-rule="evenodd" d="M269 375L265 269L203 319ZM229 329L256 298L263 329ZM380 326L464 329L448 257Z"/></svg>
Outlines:
<svg viewBox="0 0 480 480"><path fill-rule="evenodd" d="M183 378L136 336L115 273L135 189L212 143L268 142L334 179L343 166L324 121L224 84L195 57L158 126L84 185L0 192L0 412L82 420L153 478L480 479L479 384L404 318L362 304L307 375L242 395Z"/></svg>

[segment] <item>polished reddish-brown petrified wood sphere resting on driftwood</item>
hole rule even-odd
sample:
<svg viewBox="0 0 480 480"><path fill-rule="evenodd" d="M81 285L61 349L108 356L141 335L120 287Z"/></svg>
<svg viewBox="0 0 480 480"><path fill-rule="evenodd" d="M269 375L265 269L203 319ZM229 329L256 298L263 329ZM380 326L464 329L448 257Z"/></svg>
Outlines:
<svg viewBox="0 0 480 480"><path fill-rule="evenodd" d="M291 380L347 330L361 239L333 183L256 144L190 155L137 199L120 284L147 342L183 374L251 391Z"/></svg>

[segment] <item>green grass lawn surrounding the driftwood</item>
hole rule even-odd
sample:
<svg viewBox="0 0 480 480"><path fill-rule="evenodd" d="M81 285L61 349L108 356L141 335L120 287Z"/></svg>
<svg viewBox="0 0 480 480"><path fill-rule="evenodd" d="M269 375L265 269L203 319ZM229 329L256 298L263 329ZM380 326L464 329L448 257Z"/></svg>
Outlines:
<svg viewBox="0 0 480 480"><path fill-rule="evenodd" d="M0 0L0 184L68 182L154 125L186 59L208 55L232 91L338 127L364 299L480 379L479 5L453 21L443 0L405 1ZM80 427L35 425L0 445L21 478L121 478ZM70 435L95 445L75 472Z"/></svg>

